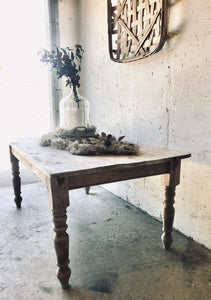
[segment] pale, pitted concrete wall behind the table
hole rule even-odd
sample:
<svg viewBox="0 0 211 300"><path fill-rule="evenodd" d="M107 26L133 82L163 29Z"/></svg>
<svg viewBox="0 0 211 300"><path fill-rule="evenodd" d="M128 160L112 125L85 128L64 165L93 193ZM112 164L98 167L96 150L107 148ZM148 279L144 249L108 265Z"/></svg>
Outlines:
<svg viewBox="0 0 211 300"><path fill-rule="evenodd" d="M75 18L85 48L81 93L90 100L91 123L99 132L192 153L182 162L174 225L211 248L211 3L169 3L165 47L147 59L118 64L109 59L107 1L80 1ZM106 188L161 218L159 177Z"/></svg>

